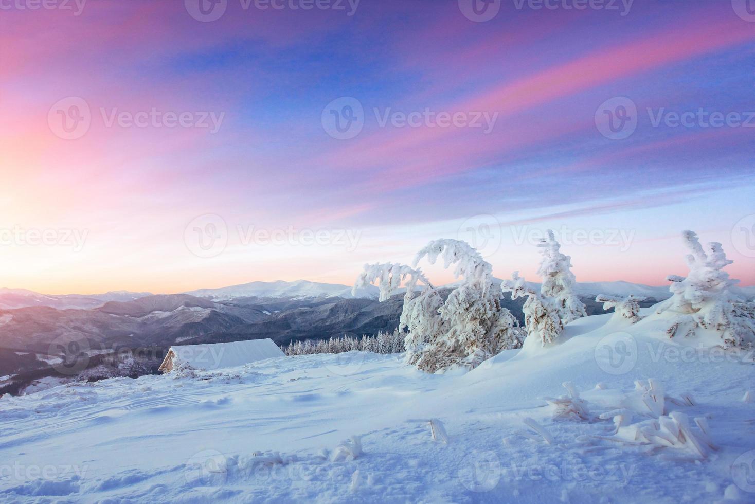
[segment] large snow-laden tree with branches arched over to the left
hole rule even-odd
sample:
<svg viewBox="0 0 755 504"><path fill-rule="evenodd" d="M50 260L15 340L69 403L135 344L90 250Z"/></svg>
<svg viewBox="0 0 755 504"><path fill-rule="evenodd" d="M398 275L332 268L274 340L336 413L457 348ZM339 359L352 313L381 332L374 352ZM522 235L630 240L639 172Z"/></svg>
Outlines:
<svg viewBox="0 0 755 504"><path fill-rule="evenodd" d="M456 265L455 276L463 277L445 302L421 270L401 264L367 265L354 287L378 281L385 300L408 278L399 324L408 330L408 363L429 373L456 366L471 369L501 350L521 346L522 330L501 306L492 266L469 244L451 239L431 241L418 252L414 266L424 258L434 264L441 255L445 268ZM425 286L419 294L414 292L418 281Z"/></svg>

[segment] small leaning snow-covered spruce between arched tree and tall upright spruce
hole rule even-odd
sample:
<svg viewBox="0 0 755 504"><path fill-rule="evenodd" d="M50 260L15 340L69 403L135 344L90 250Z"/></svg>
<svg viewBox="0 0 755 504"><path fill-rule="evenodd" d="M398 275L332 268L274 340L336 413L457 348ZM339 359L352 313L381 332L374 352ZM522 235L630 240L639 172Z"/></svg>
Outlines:
<svg viewBox="0 0 755 504"><path fill-rule="evenodd" d="M518 297L527 297L524 306L522 306L527 342L536 340L540 343L540 346L547 346L561 335L564 325L558 306L549 297L545 297L528 287L525 279L519 276L519 272L513 272L511 280L501 282L501 289L504 292L510 292L512 300L516 300ZM527 346L532 344L527 342L525 342Z"/></svg>

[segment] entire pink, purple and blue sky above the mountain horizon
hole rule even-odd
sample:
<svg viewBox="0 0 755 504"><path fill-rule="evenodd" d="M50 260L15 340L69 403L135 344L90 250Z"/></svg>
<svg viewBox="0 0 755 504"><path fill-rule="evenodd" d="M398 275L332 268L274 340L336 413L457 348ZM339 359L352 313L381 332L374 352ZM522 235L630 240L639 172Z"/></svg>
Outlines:
<svg viewBox="0 0 755 504"><path fill-rule="evenodd" d="M0 10L0 287L353 284L435 238L536 281L546 229L578 281L667 284L691 229L755 284L732 2L338 3Z"/></svg>

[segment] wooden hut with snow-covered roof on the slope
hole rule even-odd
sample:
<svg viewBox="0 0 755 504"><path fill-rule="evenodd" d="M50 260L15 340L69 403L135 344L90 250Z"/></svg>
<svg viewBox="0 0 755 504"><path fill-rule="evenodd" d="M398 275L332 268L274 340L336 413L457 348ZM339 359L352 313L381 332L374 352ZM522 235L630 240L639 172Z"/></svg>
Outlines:
<svg viewBox="0 0 755 504"><path fill-rule="evenodd" d="M170 373L178 361L194 369L215 370L275 357L285 357L285 354L269 338L207 345L174 345L168 349L159 370Z"/></svg>

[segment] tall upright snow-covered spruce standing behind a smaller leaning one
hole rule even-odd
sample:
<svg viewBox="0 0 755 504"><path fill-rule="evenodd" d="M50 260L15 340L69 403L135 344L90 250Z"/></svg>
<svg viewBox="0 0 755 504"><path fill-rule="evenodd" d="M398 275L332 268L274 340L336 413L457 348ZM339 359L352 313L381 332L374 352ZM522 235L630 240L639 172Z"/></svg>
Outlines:
<svg viewBox="0 0 755 504"><path fill-rule="evenodd" d="M538 275L543 278L540 293L556 304L562 324L569 324L581 317L587 317L584 303L574 291L576 281L572 267L572 258L560 252L561 245L556 241L553 231L548 230L547 238L538 244L543 259Z"/></svg>

